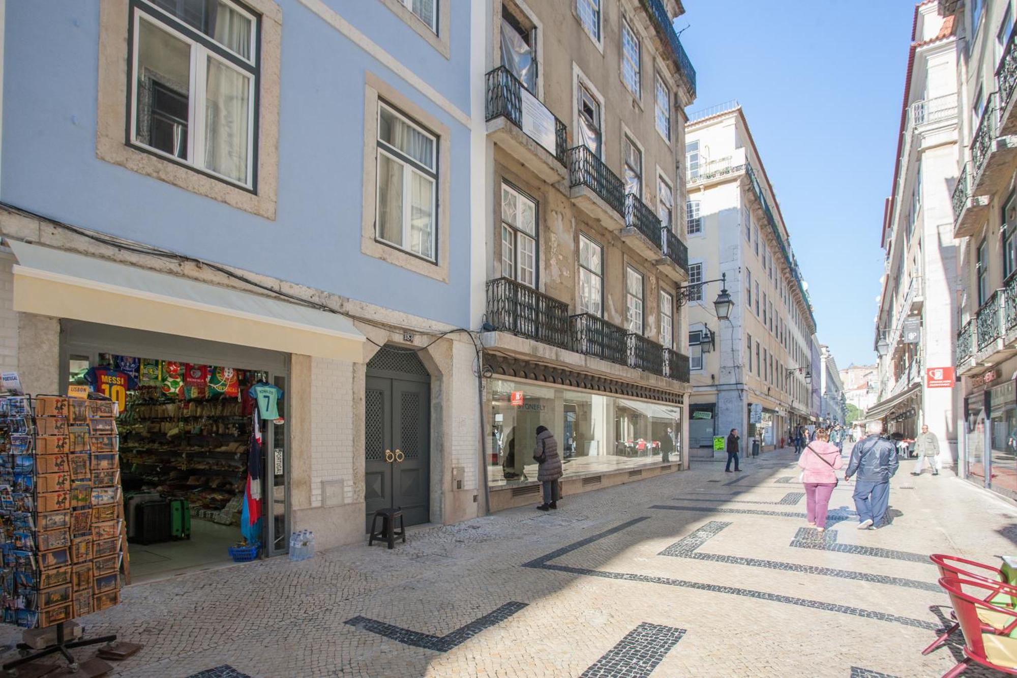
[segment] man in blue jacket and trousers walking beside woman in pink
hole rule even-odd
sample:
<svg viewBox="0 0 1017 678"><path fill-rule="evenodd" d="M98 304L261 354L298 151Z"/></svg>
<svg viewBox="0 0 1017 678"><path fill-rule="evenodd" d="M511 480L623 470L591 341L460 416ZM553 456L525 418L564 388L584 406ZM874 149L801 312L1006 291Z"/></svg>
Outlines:
<svg viewBox="0 0 1017 678"><path fill-rule="evenodd" d="M890 502L890 478L897 472L897 448L884 438L883 422L870 421L869 434L854 444L851 461L844 479L857 474L854 484L854 508L858 512L858 529L876 529L883 522Z"/></svg>

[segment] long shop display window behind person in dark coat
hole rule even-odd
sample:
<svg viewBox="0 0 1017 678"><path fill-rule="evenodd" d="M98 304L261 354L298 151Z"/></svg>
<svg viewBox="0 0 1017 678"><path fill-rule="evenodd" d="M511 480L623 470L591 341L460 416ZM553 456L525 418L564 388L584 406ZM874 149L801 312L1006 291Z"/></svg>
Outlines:
<svg viewBox="0 0 1017 678"><path fill-rule="evenodd" d="M488 483L537 479L536 430L557 439L564 474L680 461L681 408L507 380L487 383Z"/></svg>

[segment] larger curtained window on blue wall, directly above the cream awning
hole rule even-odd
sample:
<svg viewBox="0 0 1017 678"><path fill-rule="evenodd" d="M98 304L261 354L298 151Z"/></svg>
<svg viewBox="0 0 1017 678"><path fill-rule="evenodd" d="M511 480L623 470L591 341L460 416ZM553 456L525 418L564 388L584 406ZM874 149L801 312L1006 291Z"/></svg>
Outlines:
<svg viewBox="0 0 1017 678"><path fill-rule="evenodd" d="M257 17L228 0L131 11L130 143L252 188Z"/></svg>

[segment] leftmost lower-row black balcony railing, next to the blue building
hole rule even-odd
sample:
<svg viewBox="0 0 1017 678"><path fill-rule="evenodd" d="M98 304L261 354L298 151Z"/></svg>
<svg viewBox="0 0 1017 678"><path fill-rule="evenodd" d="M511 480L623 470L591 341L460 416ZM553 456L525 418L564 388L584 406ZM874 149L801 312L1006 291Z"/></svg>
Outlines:
<svg viewBox="0 0 1017 678"><path fill-rule="evenodd" d="M495 330L569 348L569 304L511 278L488 281L487 322Z"/></svg>

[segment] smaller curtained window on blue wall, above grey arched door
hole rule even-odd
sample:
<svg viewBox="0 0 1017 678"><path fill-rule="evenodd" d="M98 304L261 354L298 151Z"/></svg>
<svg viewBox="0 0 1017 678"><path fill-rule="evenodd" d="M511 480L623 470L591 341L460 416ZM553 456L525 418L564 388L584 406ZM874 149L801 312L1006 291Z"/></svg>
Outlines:
<svg viewBox="0 0 1017 678"><path fill-rule="evenodd" d="M378 105L376 236L434 261L437 138Z"/></svg>

